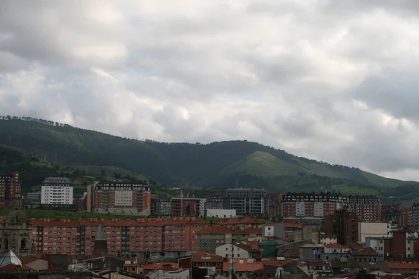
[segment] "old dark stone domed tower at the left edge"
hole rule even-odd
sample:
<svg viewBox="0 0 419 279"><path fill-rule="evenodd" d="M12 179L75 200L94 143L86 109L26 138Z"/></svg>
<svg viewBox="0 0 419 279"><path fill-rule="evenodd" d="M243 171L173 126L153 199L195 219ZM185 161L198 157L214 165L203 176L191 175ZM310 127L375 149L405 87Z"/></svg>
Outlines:
<svg viewBox="0 0 419 279"><path fill-rule="evenodd" d="M17 256L34 254L32 247L32 226L22 210L20 192L15 194L13 209L3 221L0 229L0 251L12 250Z"/></svg>

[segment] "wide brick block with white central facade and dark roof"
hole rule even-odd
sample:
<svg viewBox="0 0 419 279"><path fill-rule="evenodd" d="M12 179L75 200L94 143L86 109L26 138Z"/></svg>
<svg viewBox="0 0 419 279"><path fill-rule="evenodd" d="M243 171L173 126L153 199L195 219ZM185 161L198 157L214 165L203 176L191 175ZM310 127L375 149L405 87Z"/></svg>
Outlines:
<svg viewBox="0 0 419 279"><path fill-rule="evenodd" d="M94 213L149 216L150 186L145 181L100 181L87 190L87 209ZM89 203L91 204L89 206Z"/></svg>

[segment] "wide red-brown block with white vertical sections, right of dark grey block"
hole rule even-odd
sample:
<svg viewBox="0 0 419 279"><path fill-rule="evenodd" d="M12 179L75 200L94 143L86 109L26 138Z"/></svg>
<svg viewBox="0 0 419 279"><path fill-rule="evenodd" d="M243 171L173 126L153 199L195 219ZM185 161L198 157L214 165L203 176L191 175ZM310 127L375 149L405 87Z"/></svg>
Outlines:
<svg viewBox="0 0 419 279"><path fill-rule="evenodd" d="M321 223L344 204L337 193L286 193L282 196L281 213L284 220Z"/></svg>

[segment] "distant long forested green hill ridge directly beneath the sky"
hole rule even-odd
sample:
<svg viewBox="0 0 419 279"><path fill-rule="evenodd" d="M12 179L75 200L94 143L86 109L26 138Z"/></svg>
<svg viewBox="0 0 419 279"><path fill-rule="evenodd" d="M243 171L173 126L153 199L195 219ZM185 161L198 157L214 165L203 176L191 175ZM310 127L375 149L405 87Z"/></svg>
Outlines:
<svg viewBox="0 0 419 279"><path fill-rule="evenodd" d="M24 120L22 120L24 119ZM212 144L130 140L24 117L0 116L0 144L48 162L87 172L129 172L169 186L400 186L354 167L330 165L293 156L256 142ZM6 159L7 160L7 159Z"/></svg>

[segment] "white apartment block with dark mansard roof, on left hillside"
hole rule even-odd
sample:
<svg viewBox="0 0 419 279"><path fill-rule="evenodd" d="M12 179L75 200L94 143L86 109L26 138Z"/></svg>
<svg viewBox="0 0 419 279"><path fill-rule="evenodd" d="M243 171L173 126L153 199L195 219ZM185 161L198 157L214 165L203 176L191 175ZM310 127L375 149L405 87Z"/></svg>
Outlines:
<svg viewBox="0 0 419 279"><path fill-rule="evenodd" d="M66 177L48 177L41 186L41 209L73 209L73 186Z"/></svg>

